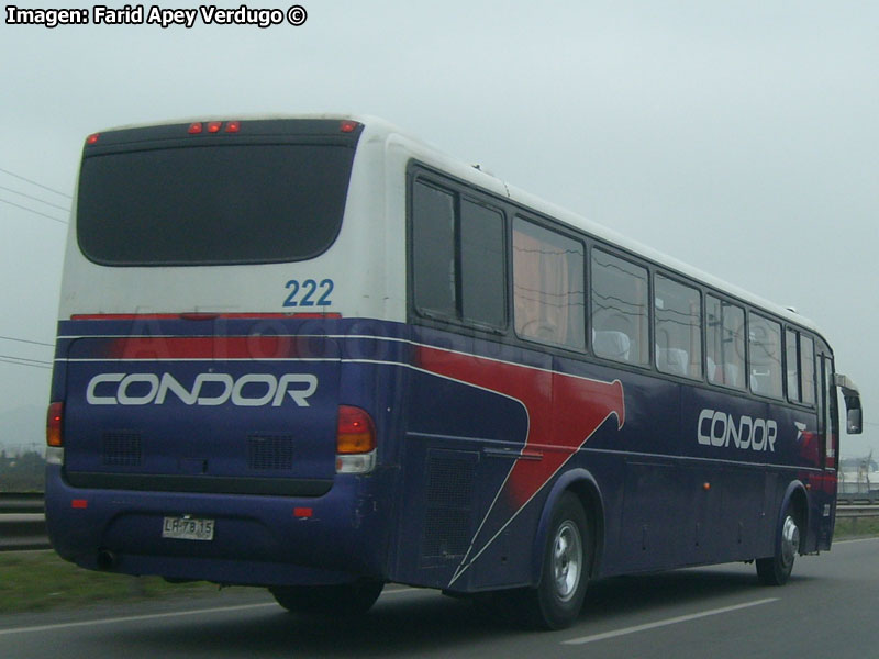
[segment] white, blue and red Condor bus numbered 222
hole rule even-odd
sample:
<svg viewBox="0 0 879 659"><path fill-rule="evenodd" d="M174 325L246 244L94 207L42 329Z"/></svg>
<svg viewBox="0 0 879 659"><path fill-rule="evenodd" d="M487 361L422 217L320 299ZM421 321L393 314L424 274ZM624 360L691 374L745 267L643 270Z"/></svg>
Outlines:
<svg viewBox="0 0 879 659"><path fill-rule="evenodd" d="M368 116L90 135L46 522L91 570L561 628L589 581L831 548L819 328ZM500 593L500 596L498 595Z"/></svg>

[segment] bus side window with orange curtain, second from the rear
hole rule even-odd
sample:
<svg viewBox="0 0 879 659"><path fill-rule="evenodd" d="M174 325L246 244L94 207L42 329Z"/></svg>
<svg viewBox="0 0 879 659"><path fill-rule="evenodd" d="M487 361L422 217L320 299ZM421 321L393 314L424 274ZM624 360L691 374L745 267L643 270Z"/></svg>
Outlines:
<svg viewBox="0 0 879 659"><path fill-rule="evenodd" d="M513 222L515 332L523 338L586 348L583 244L533 222Z"/></svg>

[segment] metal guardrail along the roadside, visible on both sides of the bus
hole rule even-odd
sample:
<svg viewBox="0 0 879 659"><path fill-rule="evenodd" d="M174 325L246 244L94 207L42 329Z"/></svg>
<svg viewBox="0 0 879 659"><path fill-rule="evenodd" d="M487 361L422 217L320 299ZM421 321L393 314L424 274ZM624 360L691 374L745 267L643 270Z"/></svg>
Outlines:
<svg viewBox="0 0 879 659"><path fill-rule="evenodd" d="M42 493L8 494L0 492L0 551L51 549L46 535ZM879 517L879 503L836 506L838 520Z"/></svg>

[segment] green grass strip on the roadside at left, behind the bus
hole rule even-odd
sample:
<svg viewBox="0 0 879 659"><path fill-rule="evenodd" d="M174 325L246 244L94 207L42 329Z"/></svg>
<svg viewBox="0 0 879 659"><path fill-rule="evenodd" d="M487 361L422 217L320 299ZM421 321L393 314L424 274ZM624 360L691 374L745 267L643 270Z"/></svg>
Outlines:
<svg viewBox="0 0 879 659"><path fill-rule="evenodd" d="M170 584L158 577L84 570L54 551L0 554L0 614L204 595L216 590L216 585L203 581Z"/></svg>

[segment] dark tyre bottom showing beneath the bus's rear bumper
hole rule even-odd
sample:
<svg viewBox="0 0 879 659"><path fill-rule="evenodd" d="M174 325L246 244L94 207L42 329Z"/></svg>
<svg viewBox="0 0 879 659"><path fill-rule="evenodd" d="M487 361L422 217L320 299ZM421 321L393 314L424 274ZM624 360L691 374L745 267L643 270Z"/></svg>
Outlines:
<svg viewBox="0 0 879 659"><path fill-rule="evenodd" d="M369 611L383 588L381 581L360 580L336 585L277 585L269 592L290 613L357 615Z"/></svg>

